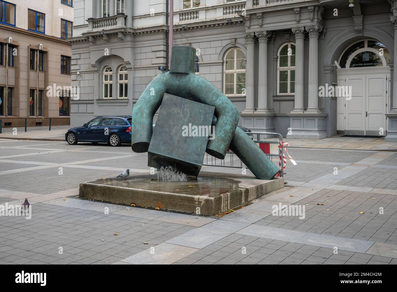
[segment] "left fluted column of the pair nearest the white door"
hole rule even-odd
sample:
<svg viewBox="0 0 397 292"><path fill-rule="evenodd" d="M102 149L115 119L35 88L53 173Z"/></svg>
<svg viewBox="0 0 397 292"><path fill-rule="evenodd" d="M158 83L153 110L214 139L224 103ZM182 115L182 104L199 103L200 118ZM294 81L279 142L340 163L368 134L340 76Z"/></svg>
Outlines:
<svg viewBox="0 0 397 292"><path fill-rule="evenodd" d="M304 27L294 27L292 32L295 35L295 103L293 113L304 111Z"/></svg>

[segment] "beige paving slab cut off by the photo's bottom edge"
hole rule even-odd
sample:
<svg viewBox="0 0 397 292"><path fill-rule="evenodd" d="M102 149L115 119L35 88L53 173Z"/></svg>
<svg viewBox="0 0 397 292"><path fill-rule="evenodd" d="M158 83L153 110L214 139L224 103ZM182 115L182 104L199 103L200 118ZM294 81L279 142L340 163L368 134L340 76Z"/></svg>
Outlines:
<svg viewBox="0 0 397 292"><path fill-rule="evenodd" d="M134 265L170 265L175 261L179 261L180 259L197 252L197 250L197 248L164 242L158 246L122 259L121 262L131 263Z"/></svg>

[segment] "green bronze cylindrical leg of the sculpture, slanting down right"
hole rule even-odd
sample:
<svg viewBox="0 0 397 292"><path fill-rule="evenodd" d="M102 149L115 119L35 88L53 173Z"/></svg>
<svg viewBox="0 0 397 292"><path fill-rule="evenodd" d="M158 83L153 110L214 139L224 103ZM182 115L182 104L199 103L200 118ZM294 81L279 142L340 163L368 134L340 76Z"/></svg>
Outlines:
<svg viewBox="0 0 397 292"><path fill-rule="evenodd" d="M257 179L272 179L279 171L278 167L239 127L234 133L229 148L247 165Z"/></svg>

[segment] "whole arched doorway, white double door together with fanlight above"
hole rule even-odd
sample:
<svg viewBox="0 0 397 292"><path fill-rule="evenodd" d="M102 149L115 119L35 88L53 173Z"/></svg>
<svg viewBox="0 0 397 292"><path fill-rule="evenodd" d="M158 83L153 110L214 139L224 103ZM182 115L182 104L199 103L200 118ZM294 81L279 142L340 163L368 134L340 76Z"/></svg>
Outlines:
<svg viewBox="0 0 397 292"><path fill-rule="evenodd" d="M339 92L343 90L347 94L337 95L338 133L386 135L390 62L389 51L377 40L360 40L343 52L337 80Z"/></svg>

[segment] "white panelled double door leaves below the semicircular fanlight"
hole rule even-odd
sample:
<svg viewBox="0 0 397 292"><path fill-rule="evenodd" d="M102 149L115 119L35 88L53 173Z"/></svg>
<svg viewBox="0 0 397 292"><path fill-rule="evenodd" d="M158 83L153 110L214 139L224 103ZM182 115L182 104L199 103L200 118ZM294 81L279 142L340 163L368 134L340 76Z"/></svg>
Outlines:
<svg viewBox="0 0 397 292"><path fill-rule="evenodd" d="M337 130L385 136L389 81L388 67L339 69L338 86L349 86L350 96L337 97Z"/></svg>

